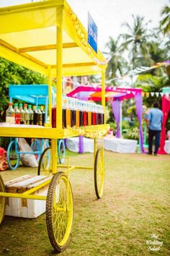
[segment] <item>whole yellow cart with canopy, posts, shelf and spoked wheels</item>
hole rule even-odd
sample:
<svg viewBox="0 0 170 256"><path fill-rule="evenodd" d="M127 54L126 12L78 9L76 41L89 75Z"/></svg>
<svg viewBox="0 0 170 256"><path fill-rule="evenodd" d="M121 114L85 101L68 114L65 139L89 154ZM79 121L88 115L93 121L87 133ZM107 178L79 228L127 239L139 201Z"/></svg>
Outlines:
<svg viewBox="0 0 170 256"><path fill-rule="evenodd" d="M0 127L0 137L34 137L51 139L53 177L48 182L23 192L7 193L0 179L0 223L4 218L6 197L46 200L46 222L50 243L57 252L66 249L73 221L73 195L68 173L74 168L94 170L97 197L102 197L104 184L103 146L97 149L97 138L105 135L109 125L101 124L79 129L62 128L62 77L71 75L102 75L102 106L104 72L107 61L98 50L89 46L87 33L65 0L40 1L0 9L0 56L48 77L49 109L51 82L56 77L56 127ZM51 123L51 112L50 123ZM94 166L70 166L58 171L57 140L84 135L94 138ZM32 195L49 184L48 195Z"/></svg>

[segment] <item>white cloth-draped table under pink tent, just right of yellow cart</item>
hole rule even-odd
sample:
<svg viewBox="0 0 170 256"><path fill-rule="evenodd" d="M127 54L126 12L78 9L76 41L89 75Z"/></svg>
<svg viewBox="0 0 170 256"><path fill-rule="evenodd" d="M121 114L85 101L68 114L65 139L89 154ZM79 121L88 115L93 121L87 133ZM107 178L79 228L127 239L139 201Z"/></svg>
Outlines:
<svg viewBox="0 0 170 256"><path fill-rule="evenodd" d="M104 149L118 153L135 153L137 140L104 137Z"/></svg>

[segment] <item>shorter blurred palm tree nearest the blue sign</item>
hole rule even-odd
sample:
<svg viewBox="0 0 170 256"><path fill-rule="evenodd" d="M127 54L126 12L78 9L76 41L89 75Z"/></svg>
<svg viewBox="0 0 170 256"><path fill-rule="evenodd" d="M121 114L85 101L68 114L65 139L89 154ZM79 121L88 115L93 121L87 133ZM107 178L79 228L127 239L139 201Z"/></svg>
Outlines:
<svg viewBox="0 0 170 256"><path fill-rule="evenodd" d="M109 56L109 62L106 70L106 77L108 80L116 77L117 71L122 75L122 69L125 67L126 61L120 54L119 42L109 36L105 48L107 48L107 54Z"/></svg>

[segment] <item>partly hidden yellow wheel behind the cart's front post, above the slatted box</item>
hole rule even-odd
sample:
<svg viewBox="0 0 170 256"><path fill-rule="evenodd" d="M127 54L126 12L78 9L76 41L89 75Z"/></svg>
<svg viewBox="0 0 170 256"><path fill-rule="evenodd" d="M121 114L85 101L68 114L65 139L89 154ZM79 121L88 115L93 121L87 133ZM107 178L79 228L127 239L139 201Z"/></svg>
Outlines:
<svg viewBox="0 0 170 256"><path fill-rule="evenodd" d="M40 156L37 175L52 175L51 148L45 148Z"/></svg>

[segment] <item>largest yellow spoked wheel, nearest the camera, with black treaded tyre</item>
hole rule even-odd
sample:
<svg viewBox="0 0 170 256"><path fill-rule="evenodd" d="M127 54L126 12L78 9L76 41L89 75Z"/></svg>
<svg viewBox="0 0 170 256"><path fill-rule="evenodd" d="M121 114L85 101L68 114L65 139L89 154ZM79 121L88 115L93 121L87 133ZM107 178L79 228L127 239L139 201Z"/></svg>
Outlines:
<svg viewBox="0 0 170 256"><path fill-rule="evenodd" d="M61 171L53 176L48 188L46 223L51 245L56 252L63 252L70 242L73 193L66 174Z"/></svg>

